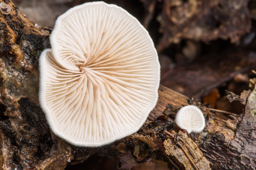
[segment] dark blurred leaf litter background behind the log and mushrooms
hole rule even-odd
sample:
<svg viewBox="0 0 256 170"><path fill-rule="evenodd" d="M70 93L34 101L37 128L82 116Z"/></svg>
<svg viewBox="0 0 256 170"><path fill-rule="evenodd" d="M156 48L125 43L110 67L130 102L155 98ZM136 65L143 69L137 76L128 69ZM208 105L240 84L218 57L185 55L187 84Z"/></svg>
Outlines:
<svg viewBox="0 0 256 170"><path fill-rule="evenodd" d="M85 0L14 0L38 26ZM256 70L254 0L107 0L132 13L149 31L161 64L161 84L211 108L242 113L234 101ZM233 101L230 103L230 101ZM224 118L225 119L225 118ZM67 169L116 169L117 159L94 155ZM142 163L132 169L165 169Z"/></svg>

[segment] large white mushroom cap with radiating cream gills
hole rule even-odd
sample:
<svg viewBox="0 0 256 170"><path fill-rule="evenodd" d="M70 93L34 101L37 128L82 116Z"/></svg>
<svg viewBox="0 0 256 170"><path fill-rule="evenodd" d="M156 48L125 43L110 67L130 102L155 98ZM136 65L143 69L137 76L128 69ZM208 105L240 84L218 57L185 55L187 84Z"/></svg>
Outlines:
<svg viewBox="0 0 256 170"><path fill-rule="evenodd" d="M104 2L58 18L40 58L41 107L56 135L97 147L139 130L158 98L160 67L149 33Z"/></svg>

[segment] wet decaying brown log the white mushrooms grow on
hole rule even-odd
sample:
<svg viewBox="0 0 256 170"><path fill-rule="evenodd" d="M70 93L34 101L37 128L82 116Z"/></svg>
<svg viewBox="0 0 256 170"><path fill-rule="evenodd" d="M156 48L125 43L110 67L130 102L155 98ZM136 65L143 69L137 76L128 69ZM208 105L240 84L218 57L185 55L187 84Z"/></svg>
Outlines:
<svg viewBox="0 0 256 170"><path fill-rule="evenodd" d="M11 0L0 13L0 167L65 169L100 153L118 157L119 169L156 162L169 169L253 169L256 167L256 89L243 93L243 115L226 119L164 86L142 128L99 148L75 147L56 137L38 104L38 57L50 47L49 28L29 22ZM255 85L254 85L255 86ZM188 135L174 123L179 108L194 104L206 116L206 129Z"/></svg>

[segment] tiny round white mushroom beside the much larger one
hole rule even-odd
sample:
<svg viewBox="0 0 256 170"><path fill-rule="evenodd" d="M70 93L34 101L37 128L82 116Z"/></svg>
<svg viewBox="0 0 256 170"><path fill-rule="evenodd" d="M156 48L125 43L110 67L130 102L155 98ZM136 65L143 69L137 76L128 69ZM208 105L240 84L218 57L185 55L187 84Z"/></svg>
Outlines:
<svg viewBox="0 0 256 170"><path fill-rule="evenodd" d="M183 130L201 132L205 128L205 118L202 111L196 106L185 106L178 111L175 119L176 125Z"/></svg>

